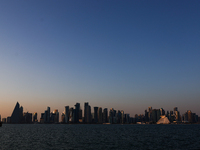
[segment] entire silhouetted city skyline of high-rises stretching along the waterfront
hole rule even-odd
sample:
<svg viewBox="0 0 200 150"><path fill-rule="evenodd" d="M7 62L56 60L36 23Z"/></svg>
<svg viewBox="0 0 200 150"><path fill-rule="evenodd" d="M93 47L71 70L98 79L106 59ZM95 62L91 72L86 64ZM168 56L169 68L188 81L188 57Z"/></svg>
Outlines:
<svg viewBox="0 0 200 150"><path fill-rule="evenodd" d="M130 117L129 114L124 113L123 110L115 110L111 108L102 109L102 107L93 107L88 102L84 103L84 113L82 113L80 103L76 103L74 107L65 106L61 114L61 121L59 121L59 112L55 109L50 111L50 107L44 113L41 113L41 118L37 119L37 113L23 112L23 107L17 102L12 115L7 118L2 118L3 123L84 123L84 124L155 124L162 118L166 118L169 123L200 123L200 117L190 110L185 112L182 116L177 107L174 110L167 111L163 108L152 109L148 107L144 114L136 114ZM163 117L164 116L164 117ZM165 120L166 120L165 119ZM1 121L1 115L0 115ZM162 121L161 121L162 122Z"/></svg>

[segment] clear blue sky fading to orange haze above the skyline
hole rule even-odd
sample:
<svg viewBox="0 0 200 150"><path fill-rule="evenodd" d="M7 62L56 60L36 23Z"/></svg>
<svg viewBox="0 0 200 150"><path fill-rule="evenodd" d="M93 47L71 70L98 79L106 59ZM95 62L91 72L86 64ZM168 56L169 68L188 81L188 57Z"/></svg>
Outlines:
<svg viewBox="0 0 200 150"><path fill-rule="evenodd" d="M200 1L10 0L0 5L0 114L84 102L200 115Z"/></svg>

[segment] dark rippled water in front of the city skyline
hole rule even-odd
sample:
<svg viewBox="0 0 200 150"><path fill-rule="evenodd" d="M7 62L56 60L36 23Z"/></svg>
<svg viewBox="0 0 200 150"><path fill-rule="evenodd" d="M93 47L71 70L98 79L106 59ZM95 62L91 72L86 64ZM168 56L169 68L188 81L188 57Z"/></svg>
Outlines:
<svg viewBox="0 0 200 150"><path fill-rule="evenodd" d="M200 149L200 125L3 124L0 149Z"/></svg>

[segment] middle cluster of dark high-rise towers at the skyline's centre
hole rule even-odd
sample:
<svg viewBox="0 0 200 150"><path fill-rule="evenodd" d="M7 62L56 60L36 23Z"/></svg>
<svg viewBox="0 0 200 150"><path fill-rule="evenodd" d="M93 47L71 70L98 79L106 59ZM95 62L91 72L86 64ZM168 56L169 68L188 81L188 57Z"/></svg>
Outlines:
<svg viewBox="0 0 200 150"><path fill-rule="evenodd" d="M113 108L108 112L107 108L94 107L93 112L88 102L84 103L84 115L80 103L76 103L75 108L65 106L61 114L61 123L85 123L85 124L102 124L102 123L130 123L129 114L124 111L116 111Z"/></svg>

